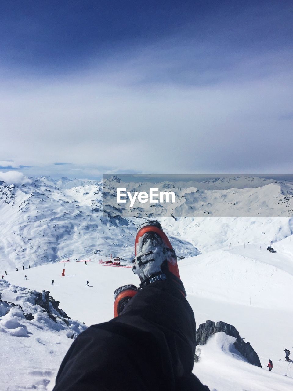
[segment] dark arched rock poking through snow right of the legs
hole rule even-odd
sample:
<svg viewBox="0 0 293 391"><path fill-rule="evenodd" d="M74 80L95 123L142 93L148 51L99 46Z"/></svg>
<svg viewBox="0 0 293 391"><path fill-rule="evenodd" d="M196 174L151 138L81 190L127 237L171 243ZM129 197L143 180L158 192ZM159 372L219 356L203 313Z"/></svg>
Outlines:
<svg viewBox="0 0 293 391"><path fill-rule="evenodd" d="M208 320L205 323L199 325L196 336L197 345L206 344L207 339L209 337L219 332L224 332L231 337L235 337L236 341L234 342L234 346L238 350L238 352L241 353L241 355L248 362L250 362L250 364L259 366L261 368L261 362L259 361L259 357L250 345L250 343L244 342L243 339L240 337L238 330L236 330L234 326L229 325L228 323L222 321L215 323L213 321ZM195 362L198 362L197 354L195 355Z"/></svg>

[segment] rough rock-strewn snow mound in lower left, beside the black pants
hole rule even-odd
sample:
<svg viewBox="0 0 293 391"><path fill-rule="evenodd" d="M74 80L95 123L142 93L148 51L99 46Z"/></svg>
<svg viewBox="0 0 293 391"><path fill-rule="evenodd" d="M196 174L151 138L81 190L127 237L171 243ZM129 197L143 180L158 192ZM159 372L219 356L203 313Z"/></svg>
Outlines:
<svg viewBox="0 0 293 391"><path fill-rule="evenodd" d="M70 337L86 326L66 319L67 326L55 310L54 322L35 305L34 290L0 280L0 294L1 390L52 389L56 370L72 343ZM16 306L10 308L9 302ZM31 313L34 319L27 320L23 312Z"/></svg>

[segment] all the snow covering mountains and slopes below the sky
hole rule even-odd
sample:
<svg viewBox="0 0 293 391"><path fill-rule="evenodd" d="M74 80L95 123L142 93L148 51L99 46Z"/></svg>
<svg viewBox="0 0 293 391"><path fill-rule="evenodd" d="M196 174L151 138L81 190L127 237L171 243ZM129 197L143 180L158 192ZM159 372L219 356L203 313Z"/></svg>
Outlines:
<svg viewBox="0 0 293 391"><path fill-rule="evenodd" d="M113 317L114 290L138 285L139 278L129 267L106 267L99 260L109 260L112 253L126 266L134 256L136 228L146 218L159 219L177 255L186 256L178 265L197 326L207 320L232 324L263 366L249 364L235 350L232 337L217 333L197 347L200 359L193 372L211 391L292 389L293 364L279 361L284 348L293 351L290 183L254 177L182 183L175 189L161 183L174 189L181 201L145 210L123 206L115 211L120 218L110 221L102 215L101 182L49 177L30 181L0 185L0 274L7 270L0 280L3 391L52 390L71 335ZM108 185L110 194L113 181ZM228 203L225 208L221 198ZM184 215L190 207L198 211L196 216ZM263 208L272 214L264 217ZM233 217L242 209L250 211L250 217ZM223 217L227 211L231 217ZM203 217L204 212L209 217ZM277 252L270 253L269 245ZM67 258L70 262L64 264ZM88 265L78 262L89 258ZM57 323L35 305L37 292L48 290L71 317L69 326L52 305ZM23 312L34 319L27 320ZM266 368L268 359L273 361L272 372Z"/></svg>

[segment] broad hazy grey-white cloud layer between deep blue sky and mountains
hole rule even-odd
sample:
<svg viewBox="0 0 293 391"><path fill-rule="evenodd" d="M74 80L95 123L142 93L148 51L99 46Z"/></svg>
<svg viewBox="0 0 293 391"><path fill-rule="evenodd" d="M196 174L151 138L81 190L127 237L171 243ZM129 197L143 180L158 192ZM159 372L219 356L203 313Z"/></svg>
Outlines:
<svg viewBox="0 0 293 391"><path fill-rule="evenodd" d="M291 172L289 52L215 51L212 66L209 50L162 41L87 72L2 83L1 156L50 174L71 161L83 176Z"/></svg>

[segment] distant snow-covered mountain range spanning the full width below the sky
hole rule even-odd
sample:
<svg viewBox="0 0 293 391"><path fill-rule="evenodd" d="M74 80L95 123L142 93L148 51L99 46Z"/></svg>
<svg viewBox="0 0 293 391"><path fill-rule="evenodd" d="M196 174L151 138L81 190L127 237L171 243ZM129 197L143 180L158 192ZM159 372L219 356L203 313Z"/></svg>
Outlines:
<svg viewBox="0 0 293 391"><path fill-rule="evenodd" d="M155 186L172 189L175 204L113 209L117 182L129 189L154 187L118 177L104 181L103 188L102 181L50 177L0 182L1 270L95 253L130 260L136 227L146 219L161 221L182 257L248 242L268 246L293 232L291 183L245 176L165 181Z"/></svg>

